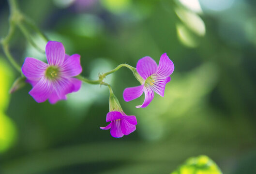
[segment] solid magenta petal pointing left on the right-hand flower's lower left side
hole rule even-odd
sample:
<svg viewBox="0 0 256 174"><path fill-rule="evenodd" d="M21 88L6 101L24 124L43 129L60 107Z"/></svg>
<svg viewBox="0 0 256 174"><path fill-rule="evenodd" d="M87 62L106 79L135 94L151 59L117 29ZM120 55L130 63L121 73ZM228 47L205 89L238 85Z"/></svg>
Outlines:
<svg viewBox="0 0 256 174"><path fill-rule="evenodd" d="M138 97L140 97L143 93L144 85L138 87L128 87L123 91L123 99L125 102L130 102Z"/></svg>

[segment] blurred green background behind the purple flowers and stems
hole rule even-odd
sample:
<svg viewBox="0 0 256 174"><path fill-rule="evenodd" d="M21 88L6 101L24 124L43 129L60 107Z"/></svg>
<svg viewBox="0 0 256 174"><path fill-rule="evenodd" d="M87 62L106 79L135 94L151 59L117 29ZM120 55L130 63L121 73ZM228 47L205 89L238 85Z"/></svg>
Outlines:
<svg viewBox="0 0 256 174"><path fill-rule="evenodd" d="M55 105L36 103L29 84L10 95L19 74L0 50L0 174L170 174L199 155L224 174L256 174L255 0L18 3L50 40L81 55L86 77L96 80L120 63L135 67L144 56L158 62L165 52L175 71L165 97L140 109L144 97L122 99L125 87L139 85L128 69L106 78L138 121L135 132L117 139L99 129L107 124L107 87L83 84ZM8 16L1 0L1 37ZM18 29L11 52L20 65L25 57L45 61Z"/></svg>

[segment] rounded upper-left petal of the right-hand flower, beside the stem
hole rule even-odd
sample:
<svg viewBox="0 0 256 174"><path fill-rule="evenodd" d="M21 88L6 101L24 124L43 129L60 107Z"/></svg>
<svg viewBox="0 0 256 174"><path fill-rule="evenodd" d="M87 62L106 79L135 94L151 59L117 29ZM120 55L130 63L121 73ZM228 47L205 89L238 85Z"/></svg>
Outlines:
<svg viewBox="0 0 256 174"><path fill-rule="evenodd" d="M151 57L139 59L136 70L145 80L157 71L157 64Z"/></svg>

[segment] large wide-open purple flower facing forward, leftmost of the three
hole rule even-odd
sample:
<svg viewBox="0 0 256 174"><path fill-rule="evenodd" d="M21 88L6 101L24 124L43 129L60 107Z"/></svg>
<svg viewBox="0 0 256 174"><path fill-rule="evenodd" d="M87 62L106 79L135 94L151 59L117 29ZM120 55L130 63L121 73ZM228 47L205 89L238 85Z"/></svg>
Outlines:
<svg viewBox="0 0 256 174"><path fill-rule="evenodd" d="M80 55L65 55L62 43L49 41L45 47L48 64L35 58L26 58L21 68L32 85L29 94L36 102L51 104L66 100L66 95L80 89L82 82L72 78L82 72Z"/></svg>

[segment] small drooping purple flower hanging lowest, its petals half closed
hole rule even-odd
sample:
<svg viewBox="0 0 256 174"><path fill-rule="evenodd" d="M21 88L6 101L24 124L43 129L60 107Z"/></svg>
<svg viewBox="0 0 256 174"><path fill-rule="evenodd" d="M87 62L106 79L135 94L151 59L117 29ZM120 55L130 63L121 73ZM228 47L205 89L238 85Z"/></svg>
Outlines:
<svg viewBox="0 0 256 174"><path fill-rule="evenodd" d="M106 127L100 127L102 130L109 130L115 138L128 135L136 130L136 116L127 116L123 112L112 111L107 113L106 122L111 121Z"/></svg>

